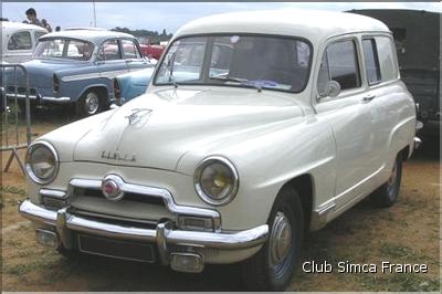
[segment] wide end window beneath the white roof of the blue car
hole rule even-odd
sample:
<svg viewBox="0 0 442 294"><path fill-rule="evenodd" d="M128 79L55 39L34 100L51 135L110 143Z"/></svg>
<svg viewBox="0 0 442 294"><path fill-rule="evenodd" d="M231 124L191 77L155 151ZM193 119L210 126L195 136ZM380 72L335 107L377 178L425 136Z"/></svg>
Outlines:
<svg viewBox="0 0 442 294"><path fill-rule="evenodd" d="M87 61L94 45L86 41L71 39L46 39L39 43L34 59L67 59Z"/></svg>

